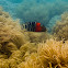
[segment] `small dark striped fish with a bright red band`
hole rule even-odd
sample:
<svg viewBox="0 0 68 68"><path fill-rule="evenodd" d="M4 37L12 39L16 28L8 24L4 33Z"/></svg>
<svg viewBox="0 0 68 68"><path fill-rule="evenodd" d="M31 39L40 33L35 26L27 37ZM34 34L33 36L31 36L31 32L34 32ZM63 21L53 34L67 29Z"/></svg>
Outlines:
<svg viewBox="0 0 68 68"><path fill-rule="evenodd" d="M22 26L30 32L46 32L46 27L44 25L41 25L39 22L27 22Z"/></svg>

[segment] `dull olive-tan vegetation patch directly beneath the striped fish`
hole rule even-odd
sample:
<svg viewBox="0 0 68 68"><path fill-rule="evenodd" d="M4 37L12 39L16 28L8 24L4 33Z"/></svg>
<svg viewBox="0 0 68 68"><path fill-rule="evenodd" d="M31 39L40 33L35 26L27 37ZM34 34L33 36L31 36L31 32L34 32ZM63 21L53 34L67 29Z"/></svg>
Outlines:
<svg viewBox="0 0 68 68"><path fill-rule="evenodd" d="M47 38L52 36L46 32L24 32L27 33L31 43L42 43L46 42Z"/></svg>

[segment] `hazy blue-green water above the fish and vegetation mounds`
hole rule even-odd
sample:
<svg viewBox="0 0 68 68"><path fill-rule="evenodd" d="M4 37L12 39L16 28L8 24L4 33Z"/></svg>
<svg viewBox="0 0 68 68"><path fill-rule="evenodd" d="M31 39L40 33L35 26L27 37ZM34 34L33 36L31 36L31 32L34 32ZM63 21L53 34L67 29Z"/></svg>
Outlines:
<svg viewBox="0 0 68 68"><path fill-rule="evenodd" d="M21 23L41 22L50 31L68 12L68 0L0 0L0 7Z"/></svg>

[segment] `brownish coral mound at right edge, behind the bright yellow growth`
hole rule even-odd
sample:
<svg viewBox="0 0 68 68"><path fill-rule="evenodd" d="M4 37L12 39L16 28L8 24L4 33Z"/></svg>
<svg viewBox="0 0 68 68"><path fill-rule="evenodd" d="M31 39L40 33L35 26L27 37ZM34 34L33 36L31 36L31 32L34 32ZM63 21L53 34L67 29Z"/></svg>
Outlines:
<svg viewBox="0 0 68 68"><path fill-rule="evenodd" d="M56 23L53 34L57 39L68 39L68 12L61 14L61 21Z"/></svg>

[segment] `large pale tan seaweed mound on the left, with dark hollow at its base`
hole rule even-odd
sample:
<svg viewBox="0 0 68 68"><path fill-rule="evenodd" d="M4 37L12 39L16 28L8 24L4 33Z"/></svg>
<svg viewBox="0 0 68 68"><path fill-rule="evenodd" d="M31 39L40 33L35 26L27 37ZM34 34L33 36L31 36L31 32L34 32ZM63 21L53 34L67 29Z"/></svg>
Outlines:
<svg viewBox="0 0 68 68"><path fill-rule="evenodd" d="M1 54L10 54L14 48L25 44L27 38L21 32L19 21L13 21L9 13L0 9L0 45ZM16 45L16 46L15 46ZM10 49L12 48L12 49Z"/></svg>

